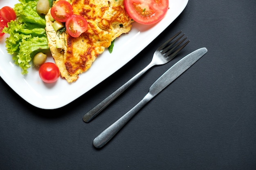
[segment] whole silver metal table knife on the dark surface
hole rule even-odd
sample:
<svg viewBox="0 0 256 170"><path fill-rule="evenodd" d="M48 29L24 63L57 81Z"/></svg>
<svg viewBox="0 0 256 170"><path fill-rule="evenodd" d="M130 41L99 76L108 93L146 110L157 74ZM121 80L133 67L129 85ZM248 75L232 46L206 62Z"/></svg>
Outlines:
<svg viewBox="0 0 256 170"><path fill-rule="evenodd" d="M161 77L159 77L159 79L157 79L157 81L155 81L155 83L149 88L148 94L146 94L146 96L136 106L134 106L115 123L106 128L106 130L101 132L101 134L93 140L93 145L96 148L101 148L108 143L108 141L112 139L112 137L114 137L115 134L132 118L132 116L134 116L148 101L150 101L150 99L155 97L159 92L166 88L166 86L171 84L173 80L198 61L205 53L207 53L206 48L193 51L169 68Z"/></svg>

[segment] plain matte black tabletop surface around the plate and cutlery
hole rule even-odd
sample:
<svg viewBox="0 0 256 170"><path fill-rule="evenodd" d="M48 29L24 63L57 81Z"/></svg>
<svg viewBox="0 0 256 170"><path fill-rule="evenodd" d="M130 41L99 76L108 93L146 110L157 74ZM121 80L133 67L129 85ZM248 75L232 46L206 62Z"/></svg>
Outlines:
<svg viewBox="0 0 256 170"><path fill-rule="evenodd" d="M56 110L31 106L0 79L1 170L255 170L256 1L190 0L152 43L101 84ZM90 123L83 115L182 30L191 42L152 68ZM208 53L103 148L94 137L135 106L184 55ZM65 92L63 92L65 93Z"/></svg>

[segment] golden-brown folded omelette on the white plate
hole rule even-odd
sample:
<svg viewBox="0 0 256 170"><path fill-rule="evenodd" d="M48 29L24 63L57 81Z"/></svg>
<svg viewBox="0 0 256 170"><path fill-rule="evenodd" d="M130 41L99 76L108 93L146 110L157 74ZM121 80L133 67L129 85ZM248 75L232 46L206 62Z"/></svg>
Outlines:
<svg viewBox="0 0 256 170"><path fill-rule="evenodd" d="M115 38L131 30L133 20L126 13L123 0L70 0L69 2L73 13L87 20L87 31L78 38L73 38L67 31L55 31L52 27L50 10L45 15L45 29L49 48L60 69L61 77L71 83L79 78L79 74L92 66L94 60L111 45Z"/></svg>

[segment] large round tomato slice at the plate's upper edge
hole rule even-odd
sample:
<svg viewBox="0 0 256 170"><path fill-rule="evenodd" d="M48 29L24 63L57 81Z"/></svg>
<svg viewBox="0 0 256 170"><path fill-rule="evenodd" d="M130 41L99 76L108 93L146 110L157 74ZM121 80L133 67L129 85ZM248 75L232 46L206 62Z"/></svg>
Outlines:
<svg viewBox="0 0 256 170"><path fill-rule="evenodd" d="M124 0L128 15L140 24L154 24L162 20L168 6L169 0Z"/></svg>

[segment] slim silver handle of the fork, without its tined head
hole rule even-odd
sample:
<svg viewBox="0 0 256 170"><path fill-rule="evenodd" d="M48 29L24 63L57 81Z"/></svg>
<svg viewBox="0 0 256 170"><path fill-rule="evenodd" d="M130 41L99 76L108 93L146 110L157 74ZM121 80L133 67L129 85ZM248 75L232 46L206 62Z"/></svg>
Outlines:
<svg viewBox="0 0 256 170"><path fill-rule="evenodd" d="M137 73L134 77L132 77L128 82L126 82L124 85L119 87L115 92L113 92L111 95L109 95L106 99L104 99L102 102L100 102L97 106L92 108L88 113L86 113L83 116L83 121L89 122L91 121L96 115L98 115L106 106L108 106L112 101L114 101L121 93L123 93L130 85L132 85L134 82L136 82L141 75L146 73L146 71L149 70L152 66L155 64L153 62L150 62L148 66L146 66L143 70L141 70L139 73Z"/></svg>

